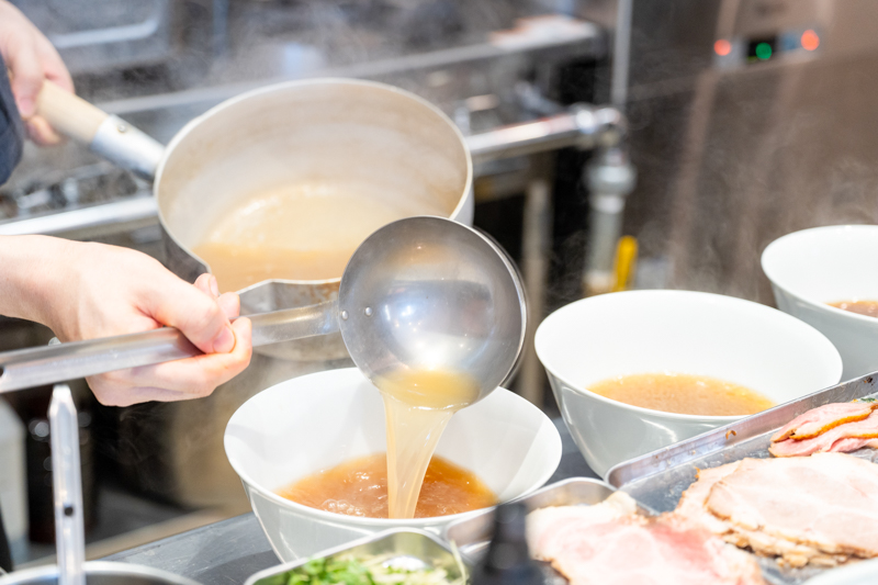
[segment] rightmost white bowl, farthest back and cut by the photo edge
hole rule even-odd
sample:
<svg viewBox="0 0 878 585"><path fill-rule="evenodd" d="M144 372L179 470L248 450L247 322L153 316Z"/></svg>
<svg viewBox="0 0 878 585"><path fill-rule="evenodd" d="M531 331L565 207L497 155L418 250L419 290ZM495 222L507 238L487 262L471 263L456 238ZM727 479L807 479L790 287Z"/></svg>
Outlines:
<svg viewBox="0 0 878 585"><path fill-rule="evenodd" d="M878 370L878 319L826 303L878 301L878 226L815 227L776 239L762 269L777 307L830 338L844 361L844 380Z"/></svg>

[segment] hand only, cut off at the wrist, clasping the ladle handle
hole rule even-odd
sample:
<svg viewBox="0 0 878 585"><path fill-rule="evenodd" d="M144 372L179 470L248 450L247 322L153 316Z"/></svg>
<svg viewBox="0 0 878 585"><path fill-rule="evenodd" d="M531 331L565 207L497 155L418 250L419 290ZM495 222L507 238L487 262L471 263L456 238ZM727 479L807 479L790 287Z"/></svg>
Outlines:
<svg viewBox="0 0 878 585"><path fill-rule="evenodd" d="M102 404L206 396L240 373L251 356L250 322L229 323L238 295L218 294L216 278L189 284L155 259L101 244L69 243L61 294L47 325L61 341L123 335L162 325L176 327L204 356L120 370L88 379Z"/></svg>

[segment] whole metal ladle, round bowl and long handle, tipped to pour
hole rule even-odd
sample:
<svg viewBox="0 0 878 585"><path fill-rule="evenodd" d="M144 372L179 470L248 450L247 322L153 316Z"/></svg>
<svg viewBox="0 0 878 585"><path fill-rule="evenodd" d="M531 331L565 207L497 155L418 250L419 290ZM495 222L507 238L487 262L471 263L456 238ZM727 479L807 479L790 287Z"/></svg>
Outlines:
<svg viewBox="0 0 878 585"><path fill-rule="evenodd" d="M369 236L338 301L248 315L254 346L340 329L369 378L407 369L472 376L480 397L513 371L525 341L525 291L488 237L440 217L409 217ZM177 329L0 353L0 393L201 355Z"/></svg>

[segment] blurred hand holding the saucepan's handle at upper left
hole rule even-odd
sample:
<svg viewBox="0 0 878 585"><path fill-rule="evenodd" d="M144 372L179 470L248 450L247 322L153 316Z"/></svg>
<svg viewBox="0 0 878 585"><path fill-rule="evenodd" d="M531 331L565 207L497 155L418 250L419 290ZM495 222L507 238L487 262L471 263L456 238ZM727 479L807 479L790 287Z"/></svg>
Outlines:
<svg viewBox="0 0 878 585"><path fill-rule="evenodd" d="M27 135L44 146L60 142L48 122L36 115L36 97L46 79L71 93L74 81L48 38L5 0L0 0L0 56L9 69L12 94Z"/></svg>

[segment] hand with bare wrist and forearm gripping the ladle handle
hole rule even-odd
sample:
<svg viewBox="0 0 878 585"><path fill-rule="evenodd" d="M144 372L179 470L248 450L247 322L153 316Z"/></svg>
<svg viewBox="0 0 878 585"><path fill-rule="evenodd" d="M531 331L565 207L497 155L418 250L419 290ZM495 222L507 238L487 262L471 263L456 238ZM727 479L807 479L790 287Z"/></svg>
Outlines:
<svg viewBox="0 0 878 585"><path fill-rule="evenodd" d="M0 236L0 314L48 326L61 341L177 327L204 356L88 379L111 406L206 396L251 356L250 322L216 279L195 285L127 248L46 236Z"/></svg>

